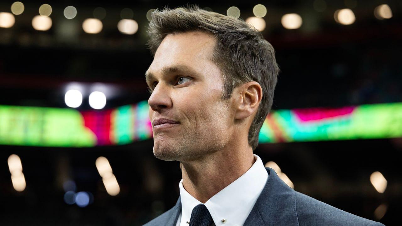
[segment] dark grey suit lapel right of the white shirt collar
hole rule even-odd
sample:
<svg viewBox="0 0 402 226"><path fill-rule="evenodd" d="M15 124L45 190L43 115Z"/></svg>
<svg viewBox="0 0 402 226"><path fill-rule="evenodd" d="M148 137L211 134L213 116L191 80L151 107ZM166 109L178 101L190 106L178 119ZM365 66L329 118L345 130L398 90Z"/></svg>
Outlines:
<svg viewBox="0 0 402 226"><path fill-rule="evenodd" d="M268 180L243 226L298 226L295 191L272 168L265 168Z"/></svg>

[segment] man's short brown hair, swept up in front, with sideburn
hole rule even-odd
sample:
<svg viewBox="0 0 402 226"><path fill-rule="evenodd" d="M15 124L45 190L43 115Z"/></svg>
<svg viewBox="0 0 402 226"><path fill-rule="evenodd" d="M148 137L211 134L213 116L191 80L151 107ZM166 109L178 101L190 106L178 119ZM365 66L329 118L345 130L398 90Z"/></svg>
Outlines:
<svg viewBox="0 0 402 226"><path fill-rule="evenodd" d="M223 74L223 100L246 82L256 81L262 87L263 98L248 131L248 144L255 150L259 131L271 110L279 73L274 48L259 31L240 19L187 6L152 13L147 43L152 55L155 56L166 35L187 31L204 31L215 36L213 61Z"/></svg>

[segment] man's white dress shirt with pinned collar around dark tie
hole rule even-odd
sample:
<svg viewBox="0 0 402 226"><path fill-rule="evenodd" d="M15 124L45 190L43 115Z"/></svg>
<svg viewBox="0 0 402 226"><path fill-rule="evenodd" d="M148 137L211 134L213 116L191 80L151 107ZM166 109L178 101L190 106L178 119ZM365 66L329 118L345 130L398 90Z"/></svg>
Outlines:
<svg viewBox="0 0 402 226"><path fill-rule="evenodd" d="M256 161L251 168L236 181L201 203L191 196L179 183L181 213L176 226L189 226L191 212L196 205L204 204L216 226L242 226L267 183L268 173L260 157L254 154Z"/></svg>

